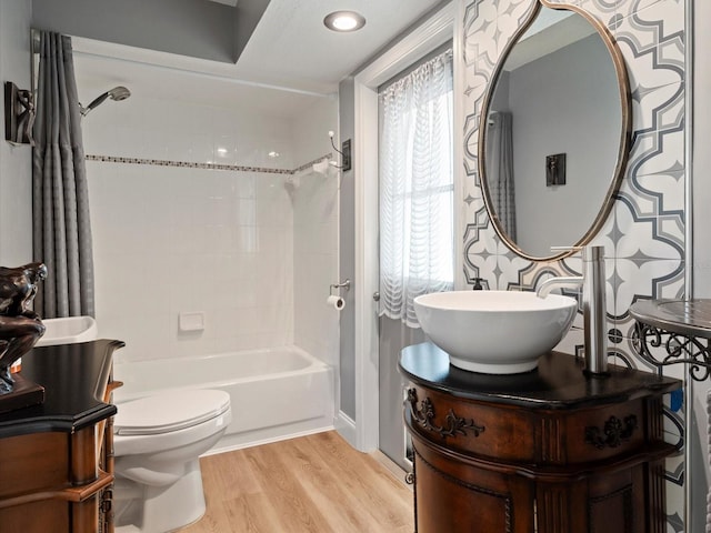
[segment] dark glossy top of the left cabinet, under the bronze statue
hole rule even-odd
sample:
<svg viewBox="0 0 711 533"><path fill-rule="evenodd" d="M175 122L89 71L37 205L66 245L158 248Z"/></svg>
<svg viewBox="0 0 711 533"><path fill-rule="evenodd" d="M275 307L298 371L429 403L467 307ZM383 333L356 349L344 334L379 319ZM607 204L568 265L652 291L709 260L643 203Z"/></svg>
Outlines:
<svg viewBox="0 0 711 533"><path fill-rule="evenodd" d="M121 341L34 348L22 355L26 380L44 386L44 402L0 414L0 438L62 431L72 433L116 414L103 402L114 350Z"/></svg>

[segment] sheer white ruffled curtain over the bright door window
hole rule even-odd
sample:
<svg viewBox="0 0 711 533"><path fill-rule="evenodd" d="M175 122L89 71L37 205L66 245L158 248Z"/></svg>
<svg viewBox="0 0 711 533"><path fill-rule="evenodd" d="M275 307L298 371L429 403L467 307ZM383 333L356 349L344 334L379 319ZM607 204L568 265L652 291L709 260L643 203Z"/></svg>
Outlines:
<svg viewBox="0 0 711 533"><path fill-rule="evenodd" d="M380 98L380 312L419 328L414 298L454 279L451 50Z"/></svg>

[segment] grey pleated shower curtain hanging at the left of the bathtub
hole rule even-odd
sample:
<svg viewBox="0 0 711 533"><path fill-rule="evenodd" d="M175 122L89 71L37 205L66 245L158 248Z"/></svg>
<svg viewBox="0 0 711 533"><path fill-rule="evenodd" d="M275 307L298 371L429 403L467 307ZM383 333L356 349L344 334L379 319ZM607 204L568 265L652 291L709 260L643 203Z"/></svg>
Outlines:
<svg viewBox="0 0 711 533"><path fill-rule="evenodd" d="M94 314L89 192L71 39L40 32L32 152L34 260L49 270L34 299L42 318Z"/></svg>

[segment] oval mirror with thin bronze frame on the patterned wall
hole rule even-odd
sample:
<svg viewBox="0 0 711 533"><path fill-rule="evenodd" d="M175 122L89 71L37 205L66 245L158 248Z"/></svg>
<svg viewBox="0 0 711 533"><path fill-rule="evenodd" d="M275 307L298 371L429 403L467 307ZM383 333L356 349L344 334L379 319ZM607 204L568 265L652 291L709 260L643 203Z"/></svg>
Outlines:
<svg viewBox="0 0 711 533"><path fill-rule="evenodd" d="M541 0L544 2L545 0ZM479 170L497 233L552 260L588 243L624 172L629 83L608 30L579 8L540 4L494 69L479 130Z"/></svg>

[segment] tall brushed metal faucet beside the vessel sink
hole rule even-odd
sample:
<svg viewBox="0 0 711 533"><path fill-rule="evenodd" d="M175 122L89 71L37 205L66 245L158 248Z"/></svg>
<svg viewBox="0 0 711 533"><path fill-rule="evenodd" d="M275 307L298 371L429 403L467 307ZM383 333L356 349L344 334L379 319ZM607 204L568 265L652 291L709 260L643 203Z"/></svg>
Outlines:
<svg viewBox="0 0 711 533"><path fill-rule="evenodd" d="M554 250L581 250L565 248ZM582 248L582 275L560 276L545 280L535 294L545 298L553 288L575 289L582 286L582 314L585 339L585 372L605 374L608 371L607 305L604 247Z"/></svg>

